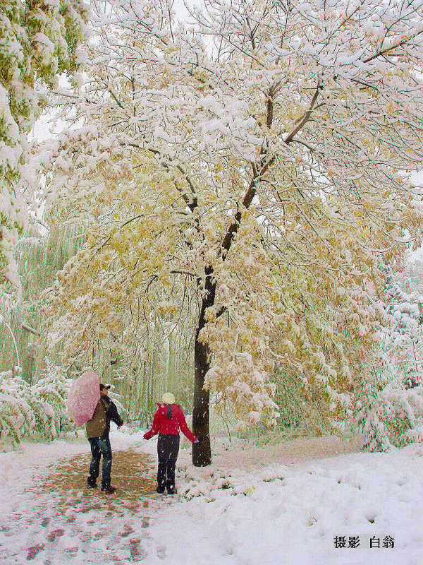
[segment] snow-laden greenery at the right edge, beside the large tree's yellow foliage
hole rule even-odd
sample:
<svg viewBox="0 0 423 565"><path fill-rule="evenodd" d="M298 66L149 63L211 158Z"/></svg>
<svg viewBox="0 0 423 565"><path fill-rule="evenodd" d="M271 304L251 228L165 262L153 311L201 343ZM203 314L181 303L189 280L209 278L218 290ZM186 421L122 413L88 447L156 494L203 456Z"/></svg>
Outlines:
<svg viewBox="0 0 423 565"><path fill-rule="evenodd" d="M386 322L379 351L355 387L354 417L369 451L386 451L423 439L422 264L386 278ZM369 371L367 371L369 373Z"/></svg>

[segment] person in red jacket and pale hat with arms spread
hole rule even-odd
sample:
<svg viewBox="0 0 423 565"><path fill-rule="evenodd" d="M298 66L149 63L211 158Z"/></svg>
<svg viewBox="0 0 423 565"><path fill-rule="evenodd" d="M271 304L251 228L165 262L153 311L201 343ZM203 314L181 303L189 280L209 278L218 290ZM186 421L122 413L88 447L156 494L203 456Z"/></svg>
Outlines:
<svg viewBox="0 0 423 565"><path fill-rule="evenodd" d="M183 411L180 409L180 405L175 404L173 394L164 393L161 402L163 404L157 403L159 409L154 415L152 429L144 434L144 438L150 439L159 433L159 441L157 441L157 455L159 456L157 492L163 494L166 487L167 494L175 494L175 466L179 451L179 429L193 444L197 444L198 439L188 428Z"/></svg>

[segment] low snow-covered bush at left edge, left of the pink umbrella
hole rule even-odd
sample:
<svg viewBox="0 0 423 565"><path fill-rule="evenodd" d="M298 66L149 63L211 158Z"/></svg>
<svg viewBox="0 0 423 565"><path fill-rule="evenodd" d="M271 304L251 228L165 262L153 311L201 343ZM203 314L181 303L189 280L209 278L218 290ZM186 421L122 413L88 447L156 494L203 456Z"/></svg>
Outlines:
<svg viewBox="0 0 423 565"><path fill-rule="evenodd" d="M68 427L68 379L57 368L30 385L13 371L0 373L0 429L19 444L24 437L54 439Z"/></svg>

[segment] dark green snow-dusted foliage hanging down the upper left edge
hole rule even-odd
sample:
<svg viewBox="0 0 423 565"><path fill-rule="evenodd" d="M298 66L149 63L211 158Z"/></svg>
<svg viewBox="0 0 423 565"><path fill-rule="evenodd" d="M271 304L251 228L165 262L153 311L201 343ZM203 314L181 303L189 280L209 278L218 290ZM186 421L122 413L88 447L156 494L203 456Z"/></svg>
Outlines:
<svg viewBox="0 0 423 565"><path fill-rule="evenodd" d="M74 78L86 39L83 0L2 0L0 4L0 283L19 285L13 250L27 210L18 190L27 134L58 77Z"/></svg>

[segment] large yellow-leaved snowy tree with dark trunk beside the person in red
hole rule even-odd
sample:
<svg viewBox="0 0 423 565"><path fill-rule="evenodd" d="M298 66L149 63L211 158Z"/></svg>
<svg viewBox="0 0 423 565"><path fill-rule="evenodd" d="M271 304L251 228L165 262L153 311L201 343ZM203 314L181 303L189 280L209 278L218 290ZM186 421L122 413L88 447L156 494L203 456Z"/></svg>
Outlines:
<svg viewBox="0 0 423 565"><path fill-rule="evenodd" d="M189 28L103 4L85 88L56 101L73 128L39 160L46 210L90 225L51 338L135 358L145 332L191 327L207 465L210 390L272 424L275 362L333 405L362 370L384 263L419 241L422 0L212 0Z"/></svg>

